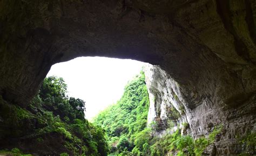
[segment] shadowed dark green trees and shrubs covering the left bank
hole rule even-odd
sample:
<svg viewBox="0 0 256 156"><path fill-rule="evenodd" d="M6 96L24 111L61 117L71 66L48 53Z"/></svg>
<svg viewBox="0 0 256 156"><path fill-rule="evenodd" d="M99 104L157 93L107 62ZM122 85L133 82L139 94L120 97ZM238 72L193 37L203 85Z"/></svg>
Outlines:
<svg viewBox="0 0 256 156"><path fill-rule="evenodd" d="M85 119L85 102L69 98L66 87L62 78L48 77L26 109L15 105L2 106L9 119L5 124L12 123L10 134L14 138L21 137L21 144L24 140L30 141L30 144L25 143L25 146L32 147L30 150L19 146L28 153L107 155L109 148L104 130ZM8 131L5 133L10 136ZM9 150L2 153L22 153L18 148L10 148L11 145L7 147Z"/></svg>

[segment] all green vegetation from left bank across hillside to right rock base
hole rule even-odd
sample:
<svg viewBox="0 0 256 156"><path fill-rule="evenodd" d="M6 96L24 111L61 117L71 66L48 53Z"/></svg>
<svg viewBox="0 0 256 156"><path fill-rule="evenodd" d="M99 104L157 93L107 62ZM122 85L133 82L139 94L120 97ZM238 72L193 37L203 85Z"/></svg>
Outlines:
<svg viewBox="0 0 256 156"><path fill-rule="evenodd" d="M1 131L0 137L21 138L15 145L1 148L0 154L29 155L201 155L212 144L221 128L216 128L208 137L193 139L173 131L178 112L173 112L167 122L169 128L161 137L157 121L147 127L149 96L145 76L141 72L125 86L122 98L103 112L91 124L85 117L85 102L66 95L66 84L62 78L45 78L38 95L26 109L16 105L1 104L3 125L9 131ZM0 100L1 97L0 97ZM11 123L11 124L9 124ZM95 126L96 125L96 126ZM182 124L188 127L187 123ZM104 128L104 129L103 129ZM153 129L153 130L152 130ZM242 139L247 147L255 145L255 134ZM29 140L30 144L26 144ZM10 142L13 143L13 142ZM23 144L25 143L25 144ZM0 147L6 144L1 144ZM29 145L33 151L25 151Z"/></svg>

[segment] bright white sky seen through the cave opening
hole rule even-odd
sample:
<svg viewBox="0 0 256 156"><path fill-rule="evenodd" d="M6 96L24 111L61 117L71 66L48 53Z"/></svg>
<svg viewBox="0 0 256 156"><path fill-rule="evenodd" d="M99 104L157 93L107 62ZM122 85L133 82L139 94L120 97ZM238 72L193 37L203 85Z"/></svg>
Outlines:
<svg viewBox="0 0 256 156"><path fill-rule="evenodd" d="M131 59L79 57L53 65L47 76L64 78L69 97L85 101L85 116L91 120L120 99L124 86L143 65Z"/></svg>

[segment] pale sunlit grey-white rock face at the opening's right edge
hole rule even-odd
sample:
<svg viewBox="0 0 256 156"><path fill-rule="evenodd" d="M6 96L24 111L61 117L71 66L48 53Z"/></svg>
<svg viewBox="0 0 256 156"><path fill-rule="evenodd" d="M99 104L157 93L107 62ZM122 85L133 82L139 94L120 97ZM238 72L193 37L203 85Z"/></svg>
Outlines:
<svg viewBox="0 0 256 156"><path fill-rule="evenodd" d="M188 123L184 104L176 93L179 91L178 83L158 66L147 64L144 72L150 98L147 123L159 122L160 130L166 130L168 120L174 121L176 125Z"/></svg>

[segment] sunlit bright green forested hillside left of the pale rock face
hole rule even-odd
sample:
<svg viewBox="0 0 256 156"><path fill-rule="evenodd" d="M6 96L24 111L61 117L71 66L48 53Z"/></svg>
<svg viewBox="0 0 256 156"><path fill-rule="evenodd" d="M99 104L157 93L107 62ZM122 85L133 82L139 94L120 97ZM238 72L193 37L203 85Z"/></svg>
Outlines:
<svg viewBox="0 0 256 156"><path fill-rule="evenodd" d="M112 153L131 152L136 145L134 135L145 130L149 96L145 84L144 73L135 77L124 89L122 98L94 119L94 123L102 126L109 136Z"/></svg>

